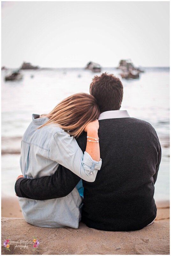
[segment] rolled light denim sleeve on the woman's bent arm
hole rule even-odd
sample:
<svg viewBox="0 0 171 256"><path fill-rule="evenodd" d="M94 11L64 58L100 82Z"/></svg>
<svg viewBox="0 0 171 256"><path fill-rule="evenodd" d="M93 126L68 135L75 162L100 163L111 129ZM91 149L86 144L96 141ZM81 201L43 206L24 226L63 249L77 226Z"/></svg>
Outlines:
<svg viewBox="0 0 171 256"><path fill-rule="evenodd" d="M86 151L83 154L75 138L64 131L56 132L53 135L49 159L63 165L81 179L89 182L95 180L102 164L101 158L98 162L93 160Z"/></svg>

